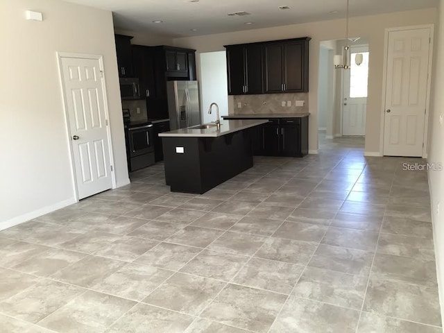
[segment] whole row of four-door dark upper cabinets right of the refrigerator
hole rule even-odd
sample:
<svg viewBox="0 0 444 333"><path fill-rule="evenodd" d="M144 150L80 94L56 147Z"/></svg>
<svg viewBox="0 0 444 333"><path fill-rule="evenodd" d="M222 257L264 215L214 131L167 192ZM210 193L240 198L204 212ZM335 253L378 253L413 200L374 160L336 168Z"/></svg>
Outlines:
<svg viewBox="0 0 444 333"><path fill-rule="evenodd" d="M310 37L225 46L228 94L308 92Z"/></svg>

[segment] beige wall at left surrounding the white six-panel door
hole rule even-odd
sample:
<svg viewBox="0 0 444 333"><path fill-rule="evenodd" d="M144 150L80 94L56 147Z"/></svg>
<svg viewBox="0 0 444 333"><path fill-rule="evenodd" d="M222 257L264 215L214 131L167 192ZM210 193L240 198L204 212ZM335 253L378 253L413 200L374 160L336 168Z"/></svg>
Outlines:
<svg viewBox="0 0 444 333"><path fill-rule="evenodd" d="M26 21L28 9L44 21ZM74 202L57 51L103 55L117 185L129 180L111 12L60 0L3 0L0 22L2 229Z"/></svg>

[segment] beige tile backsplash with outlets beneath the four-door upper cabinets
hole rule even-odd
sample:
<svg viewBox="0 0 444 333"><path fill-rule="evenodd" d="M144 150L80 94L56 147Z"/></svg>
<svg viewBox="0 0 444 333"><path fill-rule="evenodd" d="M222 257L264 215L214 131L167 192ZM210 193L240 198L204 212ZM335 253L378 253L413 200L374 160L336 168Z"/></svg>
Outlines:
<svg viewBox="0 0 444 333"><path fill-rule="evenodd" d="M304 101L304 106L296 106L296 101ZM283 102L285 102L285 106L282 106ZM288 106L288 102L290 102L290 106ZM241 106L241 108L239 108L239 106ZM234 96L234 114L293 114L306 112L309 112L309 105L308 94L305 92Z"/></svg>

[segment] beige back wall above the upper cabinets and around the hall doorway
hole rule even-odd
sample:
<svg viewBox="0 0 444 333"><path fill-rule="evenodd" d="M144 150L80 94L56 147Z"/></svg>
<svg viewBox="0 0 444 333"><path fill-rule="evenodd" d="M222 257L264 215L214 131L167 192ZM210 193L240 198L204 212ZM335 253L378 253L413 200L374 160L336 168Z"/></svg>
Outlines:
<svg viewBox="0 0 444 333"><path fill-rule="evenodd" d="M365 36L370 48L370 76L368 78L368 104L366 121L366 152L379 151L379 131L382 115L382 72L384 65L384 31L385 28L434 24L436 8L411 10L350 19L350 35ZM263 28L234 33L221 33L198 37L176 38L176 46L189 47L200 52L221 51L225 44L260 42L292 37L312 38L310 44L310 83L309 105L311 112L309 149L318 147L317 138L317 96L318 96L318 58L319 43L322 40L338 40L344 37L345 20L293 24L275 28ZM230 103L230 101L229 101ZM232 103L232 101L231 101Z"/></svg>

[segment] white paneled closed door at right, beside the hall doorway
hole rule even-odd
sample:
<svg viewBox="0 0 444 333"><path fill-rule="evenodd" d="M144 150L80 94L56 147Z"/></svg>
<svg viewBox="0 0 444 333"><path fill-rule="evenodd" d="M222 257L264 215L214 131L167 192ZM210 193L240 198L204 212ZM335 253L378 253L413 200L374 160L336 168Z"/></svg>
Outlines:
<svg viewBox="0 0 444 333"><path fill-rule="evenodd" d="M421 157L430 28L388 33L384 155Z"/></svg>

